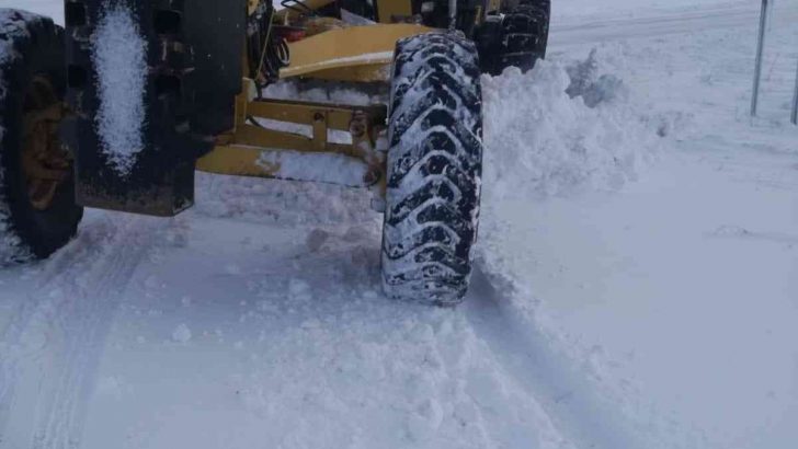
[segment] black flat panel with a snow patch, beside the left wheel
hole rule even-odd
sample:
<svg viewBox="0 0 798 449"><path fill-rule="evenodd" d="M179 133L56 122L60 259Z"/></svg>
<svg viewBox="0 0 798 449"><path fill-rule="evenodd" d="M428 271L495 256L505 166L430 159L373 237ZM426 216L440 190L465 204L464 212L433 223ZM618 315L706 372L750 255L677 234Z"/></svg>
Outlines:
<svg viewBox="0 0 798 449"><path fill-rule="evenodd" d="M62 140L76 158L78 203L155 216L191 207L196 159L233 126L246 0L66 0L65 10L75 114ZM144 67L135 55L117 58L109 38L140 43L132 53L140 48ZM109 70L109 59L130 64ZM132 85L141 92L125 92Z"/></svg>

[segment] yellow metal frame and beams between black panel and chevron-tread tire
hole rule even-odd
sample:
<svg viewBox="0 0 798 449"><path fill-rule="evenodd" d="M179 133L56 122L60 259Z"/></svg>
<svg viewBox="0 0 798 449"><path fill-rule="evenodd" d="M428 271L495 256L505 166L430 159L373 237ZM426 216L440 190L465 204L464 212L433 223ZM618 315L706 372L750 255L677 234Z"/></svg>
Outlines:
<svg viewBox="0 0 798 449"><path fill-rule="evenodd" d="M328 1L314 3L323 5ZM256 5L258 1L250 1L250 9ZM386 82L390 80L389 69L397 41L431 31L413 24L377 24L310 36L290 44L292 62L281 71L281 78ZM244 68L249 67L247 55L244 51ZM379 136L386 130L385 106L255 100L251 95L254 82L244 79L242 87L242 93L236 97L233 129L217 137L216 148L197 160L197 170L238 176L281 177L277 164L264 163L264 152L333 153L363 162L367 168L363 186L376 187L385 194L386 153L385 149L377 148ZM303 125L309 131L290 133L278 123ZM330 141L330 130L349 131L352 142Z"/></svg>

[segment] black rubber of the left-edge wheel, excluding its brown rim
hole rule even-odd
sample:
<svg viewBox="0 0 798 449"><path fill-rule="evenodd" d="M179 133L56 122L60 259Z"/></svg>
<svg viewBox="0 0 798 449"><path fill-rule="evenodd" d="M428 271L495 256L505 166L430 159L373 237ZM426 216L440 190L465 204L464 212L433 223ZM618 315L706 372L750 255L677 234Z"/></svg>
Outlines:
<svg viewBox="0 0 798 449"><path fill-rule="evenodd" d="M46 77L64 99L64 30L46 18L0 10L0 264L8 264L44 258L67 244L83 209L75 203L73 174L48 209L35 209L22 170L22 119L34 77Z"/></svg>

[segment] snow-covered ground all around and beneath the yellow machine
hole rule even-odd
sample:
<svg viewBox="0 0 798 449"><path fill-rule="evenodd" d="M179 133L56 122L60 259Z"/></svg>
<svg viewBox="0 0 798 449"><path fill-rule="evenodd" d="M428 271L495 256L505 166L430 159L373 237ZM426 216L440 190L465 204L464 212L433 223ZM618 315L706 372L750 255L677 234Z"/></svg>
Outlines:
<svg viewBox="0 0 798 449"><path fill-rule="evenodd" d="M798 2L755 119L757 2L554 3L464 307L381 296L367 194L200 176L0 273L0 448L794 448Z"/></svg>

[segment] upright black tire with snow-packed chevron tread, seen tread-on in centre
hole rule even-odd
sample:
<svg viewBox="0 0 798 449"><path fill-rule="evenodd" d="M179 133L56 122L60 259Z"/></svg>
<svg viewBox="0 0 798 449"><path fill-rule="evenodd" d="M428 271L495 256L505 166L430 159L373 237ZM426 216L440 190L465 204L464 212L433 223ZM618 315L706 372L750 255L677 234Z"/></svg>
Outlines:
<svg viewBox="0 0 798 449"><path fill-rule="evenodd" d="M384 290L395 299L454 306L468 289L479 221L477 49L455 34L404 38L392 74Z"/></svg>

